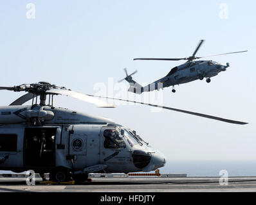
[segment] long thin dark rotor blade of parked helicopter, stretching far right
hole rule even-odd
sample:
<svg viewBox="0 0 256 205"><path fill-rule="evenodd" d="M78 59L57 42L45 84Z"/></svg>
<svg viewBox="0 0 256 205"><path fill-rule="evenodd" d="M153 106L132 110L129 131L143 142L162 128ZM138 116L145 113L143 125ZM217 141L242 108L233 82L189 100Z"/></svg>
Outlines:
<svg viewBox="0 0 256 205"><path fill-rule="evenodd" d="M91 96L91 97L100 97L100 96L95 96L95 95L89 95L89 96ZM160 106L160 105L156 105L156 104L129 101L129 100L124 100L124 99L116 99L116 98L112 98L112 97L101 97L101 98L114 99L114 100L118 100L118 101L134 102L134 103L138 103L138 104L145 104L145 105L148 105L148 106L153 106L153 107L158 107L158 108L163 108L163 109L173 110L173 111L179 111L181 113L187 113L187 114L190 114L190 115L196 115L196 116L199 116L199 117L205 117L205 118L208 118L208 119L219 120L219 121L228 122L228 123L232 123L232 124L248 124L247 122L240 122L240 121L235 121L235 120L223 119L221 117L215 117L215 116L212 116L212 115L205 115L205 114L202 114L202 113L196 113L196 112L187 111L187 110L179 110L179 109L176 109L176 108L169 108L169 107L166 107L166 106Z"/></svg>

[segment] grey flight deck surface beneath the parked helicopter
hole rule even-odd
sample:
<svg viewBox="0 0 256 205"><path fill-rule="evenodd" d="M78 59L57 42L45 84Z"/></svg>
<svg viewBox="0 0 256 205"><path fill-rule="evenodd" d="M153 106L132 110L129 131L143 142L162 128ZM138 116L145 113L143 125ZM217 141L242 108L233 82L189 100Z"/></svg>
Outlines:
<svg viewBox="0 0 256 205"><path fill-rule="evenodd" d="M26 179L0 178L0 192L256 192L256 177L93 177L89 183L26 185ZM223 182L223 181L221 181Z"/></svg>

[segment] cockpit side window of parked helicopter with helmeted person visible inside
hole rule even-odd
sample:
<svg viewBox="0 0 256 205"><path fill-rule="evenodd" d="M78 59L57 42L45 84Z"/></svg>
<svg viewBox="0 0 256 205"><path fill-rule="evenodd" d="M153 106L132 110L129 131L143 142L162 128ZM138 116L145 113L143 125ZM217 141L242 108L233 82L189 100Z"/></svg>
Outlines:
<svg viewBox="0 0 256 205"><path fill-rule="evenodd" d="M104 147L107 149L120 149L126 147L122 136L120 136L116 129L105 129L104 137Z"/></svg>

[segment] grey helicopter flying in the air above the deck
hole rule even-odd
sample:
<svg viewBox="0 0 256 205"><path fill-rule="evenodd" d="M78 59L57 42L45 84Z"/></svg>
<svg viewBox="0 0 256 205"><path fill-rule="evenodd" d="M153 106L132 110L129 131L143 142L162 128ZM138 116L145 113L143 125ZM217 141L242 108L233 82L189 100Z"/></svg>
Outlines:
<svg viewBox="0 0 256 205"><path fill-rule="evenodd" d="M206 58L211 56L197 57L196 53L201 47L201 45L205 42L205 40L201 40L196 47L196 50L189 56L188 58L134 58L134 60L167 60L167 61L179 61L179 60L187 60L185 63L178 65L170 70L170 72L163 78L154 81L153 83L142 86L136 81L133 80L132 76L136 74L137 70L132 74L127 73L127 69L125 70L126 77L120 80L119 82L126 80L129 84L129 92L134 92L136 94L142 94L142 92L150 92L152 90L160 90L161 88L172 86L172 92L176 92L174 89L175 85L180 85L183 83L189 83L191 81L195 81L197 79L203 80L206 78L206 82L210 83L212 77L217 76L219 72L225 71L228 67L230 67L229 63L226 65L221 65L221 63L217 63L212 60L197 60L200 58ZM237 51L232 53L223 53L223 54L215 54L212 56L221 56L225 54L235 54L235 53L244 53L247 51Z"/></svg>

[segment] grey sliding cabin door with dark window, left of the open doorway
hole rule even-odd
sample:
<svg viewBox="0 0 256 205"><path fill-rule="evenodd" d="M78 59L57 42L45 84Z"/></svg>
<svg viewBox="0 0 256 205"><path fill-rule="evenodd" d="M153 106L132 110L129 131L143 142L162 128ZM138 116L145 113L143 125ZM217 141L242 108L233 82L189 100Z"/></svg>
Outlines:
<svg viewBox="0 0 256 205"><path fill-rule="evenodd" d="M23 167L23 138L24 128L0 128L0 167Z"/></svg>

